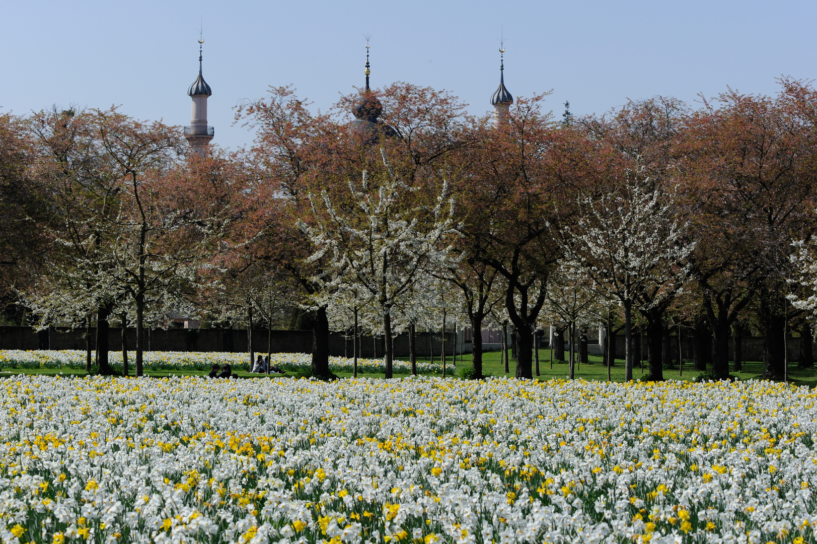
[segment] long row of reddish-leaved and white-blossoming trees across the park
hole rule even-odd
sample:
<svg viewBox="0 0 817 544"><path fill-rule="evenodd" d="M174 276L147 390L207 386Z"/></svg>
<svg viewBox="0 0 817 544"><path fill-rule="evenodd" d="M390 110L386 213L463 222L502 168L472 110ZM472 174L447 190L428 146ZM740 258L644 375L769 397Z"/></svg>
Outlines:
<svg viewBox="0 0 817 544"><path fill-rule="evenodd" d="M327 114L273 88L237 110L252 147L204 158L117 110L6 115L3 296L40 326L136 326L137 374L146 322L252 330L297 308L316 375L329 330L384 335L389 376L395 334L492 321L514 330L519 377L535 330L601 325L624 330L632 379L637 323L654 379L678 326L718 376L735 330L761 331L782 378L787 330L810 339L817 306L817 95L780 85L560 121L542 95L500 124L405 83ZM382 108L373 131L348 123L361 99ZM481 375L478 333L473 350Z"/></svg>

